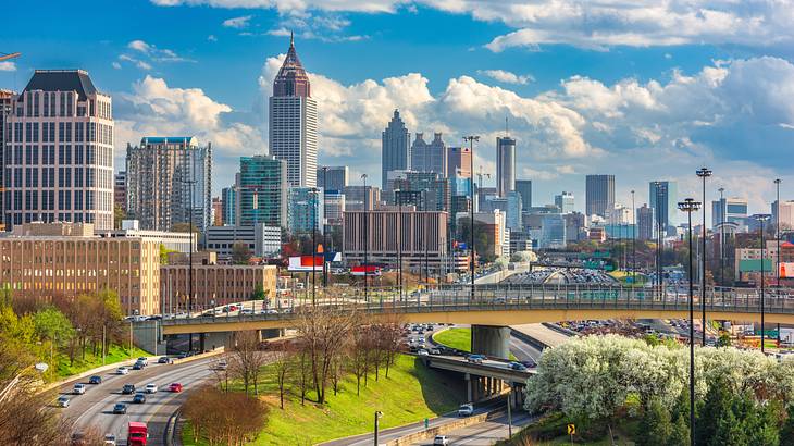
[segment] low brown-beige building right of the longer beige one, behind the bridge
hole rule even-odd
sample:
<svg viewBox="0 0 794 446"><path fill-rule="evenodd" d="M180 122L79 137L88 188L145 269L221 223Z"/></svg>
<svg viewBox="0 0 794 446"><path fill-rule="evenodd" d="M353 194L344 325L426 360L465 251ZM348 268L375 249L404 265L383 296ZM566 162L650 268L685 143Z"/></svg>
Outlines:
<svg viewBox="0 0 794 446"><path fill-rule="evenodd" d="M165 313L184 310L188 296L188 264L168 264L160 268L160 296ZM269 298L275 296L276 267L274 265L193 265L194 309L249 300L261 286Z"/></svg>

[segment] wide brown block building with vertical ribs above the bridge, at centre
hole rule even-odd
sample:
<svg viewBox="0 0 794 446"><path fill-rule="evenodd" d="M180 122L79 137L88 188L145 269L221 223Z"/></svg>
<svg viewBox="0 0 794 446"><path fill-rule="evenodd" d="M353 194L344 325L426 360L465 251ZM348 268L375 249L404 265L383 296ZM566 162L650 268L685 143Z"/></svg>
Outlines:
<svg viewBox="0 0 794 446"><path fill-rule="evenodd" d="M349 264L380 263L397 268L398 251L402 268L424 269L432 273L447 265L446 212L417 211L413 207L395 207L374 211L345 211L344 257ZM365 236L365 228L369 236ZM399 240L399 241L398 241ZM398 249L398 245L400 248ZM426 259L426 260L425 260Z"/></svg>

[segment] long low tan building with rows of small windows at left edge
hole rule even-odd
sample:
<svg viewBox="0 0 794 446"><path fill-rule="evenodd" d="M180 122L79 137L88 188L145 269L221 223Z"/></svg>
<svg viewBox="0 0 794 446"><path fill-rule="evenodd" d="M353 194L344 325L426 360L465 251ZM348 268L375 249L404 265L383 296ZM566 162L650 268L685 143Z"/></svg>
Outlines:
<svg viewBox="0 0 794 446"><path fill-rule="evenodd" d="M42 298L108 288L124 313L157 314L160 243L96 236L89 223L25 223L0 237L0 283Z"/></svg>

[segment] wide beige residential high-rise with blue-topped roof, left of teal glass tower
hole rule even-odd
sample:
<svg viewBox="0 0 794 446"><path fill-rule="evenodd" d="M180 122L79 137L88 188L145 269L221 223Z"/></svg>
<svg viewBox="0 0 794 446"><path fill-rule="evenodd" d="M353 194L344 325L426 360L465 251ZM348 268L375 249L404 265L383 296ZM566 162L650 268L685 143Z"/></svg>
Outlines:
<svg viewBox="0 0 794 446"><path fill-rule="evenodd" d="M195 136L149 136L127 144L127 213L140 227L171 231L193 224L203 232L212 224L212 144Z"/></svg>

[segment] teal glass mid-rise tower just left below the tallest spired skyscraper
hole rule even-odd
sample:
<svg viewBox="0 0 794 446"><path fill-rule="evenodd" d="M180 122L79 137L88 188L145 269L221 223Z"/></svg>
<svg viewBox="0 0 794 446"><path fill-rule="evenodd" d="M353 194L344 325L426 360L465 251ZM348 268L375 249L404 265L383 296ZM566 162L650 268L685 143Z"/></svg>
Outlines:
<svg viewBox="0 0 794 446"><path fill-rule="evenodd" d="M287 162L272 156L240 158L237 225L287 227Z"/></svg>

